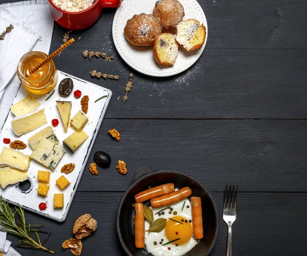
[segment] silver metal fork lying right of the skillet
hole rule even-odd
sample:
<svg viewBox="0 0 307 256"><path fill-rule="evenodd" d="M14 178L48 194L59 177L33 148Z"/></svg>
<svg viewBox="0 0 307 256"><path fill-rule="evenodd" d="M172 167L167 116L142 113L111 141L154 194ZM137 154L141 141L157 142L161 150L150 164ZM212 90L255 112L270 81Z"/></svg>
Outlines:
<svg viewBox="0 0 307 256"><path fill-rule="evenodd" d="M223 211L223 219L228 226L228 241L227 241L227 252L226 256L231 256L231 237L232 231L231 227L234 221L236 220L236 198L238 194L238 185L236 186L236 191L234 193L234 185L226 186L225 199L224 199L224 211Z"/></svg>

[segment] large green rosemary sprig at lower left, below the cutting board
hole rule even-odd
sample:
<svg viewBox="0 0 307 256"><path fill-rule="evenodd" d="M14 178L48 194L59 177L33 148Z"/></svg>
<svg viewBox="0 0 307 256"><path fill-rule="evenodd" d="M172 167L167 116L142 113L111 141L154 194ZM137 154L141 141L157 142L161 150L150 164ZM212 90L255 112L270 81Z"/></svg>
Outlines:
<svg viewBox="0 0 307 256"><path fill-rule="evenodd" d="M15 221L15 215L19 216L19 219L17 219L17 223ZM15 246L29 249L42 249L54 254L53 250L50 250L43 246L43 243L45 243L49 239L50 233L47 239L41 243L38 233L47 232L31 228L41 225L27 225L23 208L21 208L20 206L15 207L15 212L13 212L11 207L9 206L9 203L3 201L2 196L0 198L0 225L3 227L0 228L0 231L13 234L20 239L19 244ZM35 234L36 241L30 237L31 232Z"/></svg>

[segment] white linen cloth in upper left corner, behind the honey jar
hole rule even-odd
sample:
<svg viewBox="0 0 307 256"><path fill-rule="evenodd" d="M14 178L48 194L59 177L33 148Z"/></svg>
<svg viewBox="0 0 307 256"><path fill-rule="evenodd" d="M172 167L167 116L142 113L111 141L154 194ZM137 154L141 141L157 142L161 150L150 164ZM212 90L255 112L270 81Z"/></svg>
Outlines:
<svg viewBox="0 0 307 256"><path fill-rule="evenodd" d="M0 5L0 33L14 26L0 40L0 129L20 86L16 75L20 57L29 51L49 53L54 20L48 5L48 0Z"/></svg>

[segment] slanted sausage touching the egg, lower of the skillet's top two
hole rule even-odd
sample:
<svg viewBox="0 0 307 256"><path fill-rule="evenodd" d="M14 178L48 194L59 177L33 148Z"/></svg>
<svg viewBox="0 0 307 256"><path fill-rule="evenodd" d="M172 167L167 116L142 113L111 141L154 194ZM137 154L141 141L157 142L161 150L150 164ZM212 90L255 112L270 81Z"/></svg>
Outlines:
<svg viewBox="0 0 307 256"><path fill-rule="evenodd" d="M187 197L191 196L192 190L189 187L184 187L173 193L150 199L152 208L163 207L173 203L177 203Z"/></svg>

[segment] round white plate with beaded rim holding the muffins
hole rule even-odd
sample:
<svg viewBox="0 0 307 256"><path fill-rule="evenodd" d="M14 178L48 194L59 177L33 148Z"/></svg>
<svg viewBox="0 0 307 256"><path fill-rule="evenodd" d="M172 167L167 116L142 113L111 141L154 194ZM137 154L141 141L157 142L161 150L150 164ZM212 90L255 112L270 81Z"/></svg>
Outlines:
<svg viewBox="0 0 307 256"><path fill-rule="evenodd" d="M194 18L206 27L206 40L203 47L197 51L187 52L180 49L176 62L172 67L163 67L153 58L152 47L131 45L124 35L127 20L142 12L151 14L157 0L125 0L115 13L113 20L113 41L124 61L135 70L149 76L172 76L190 68L204 51L208 38L208 25L205 13L196 0L179 0L184 7L184 20Z"/></svg>

